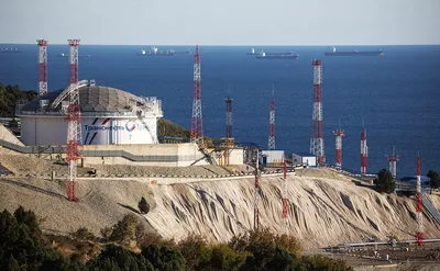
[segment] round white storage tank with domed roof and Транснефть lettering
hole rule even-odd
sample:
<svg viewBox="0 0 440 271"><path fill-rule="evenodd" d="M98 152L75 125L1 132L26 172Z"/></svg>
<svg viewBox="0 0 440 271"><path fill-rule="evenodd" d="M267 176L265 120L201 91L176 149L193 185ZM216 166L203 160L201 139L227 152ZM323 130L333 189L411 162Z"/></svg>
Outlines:
<svg viewBox="0 0 440 271"><path fill-rule="evenodd" d="M79 105L84 145L156 144L162 102L123 90L80 81ZM21 140L24 145L65 145L69 88L48 92L23 106Z"/></svg>

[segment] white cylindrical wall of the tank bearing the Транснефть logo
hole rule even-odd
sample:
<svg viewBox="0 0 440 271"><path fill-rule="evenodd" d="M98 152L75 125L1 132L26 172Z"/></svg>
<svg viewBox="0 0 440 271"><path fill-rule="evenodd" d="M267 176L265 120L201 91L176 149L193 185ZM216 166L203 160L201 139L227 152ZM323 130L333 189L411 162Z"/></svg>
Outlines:
<svg viewBox="0 0 440 271"><path fill-rule="evenodd" d="M82 117L84 145L155 144L156 117L110 118ZM24 145L65 145L67 121L64 117L21 117L21 140Z"/></svg>

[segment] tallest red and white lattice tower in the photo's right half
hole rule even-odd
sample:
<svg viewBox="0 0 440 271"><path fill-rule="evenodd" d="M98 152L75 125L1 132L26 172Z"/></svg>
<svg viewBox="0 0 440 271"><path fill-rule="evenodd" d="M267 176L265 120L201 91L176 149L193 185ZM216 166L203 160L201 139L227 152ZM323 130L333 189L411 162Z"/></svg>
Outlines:
<svg viewBox="0 0 440 271"><path fill-rule="evenodd" d="M312 60L314 65L314 112L311 116L310 154L318 157L320 166L326 165L322 132L322 64L319 59Z"/></svg>

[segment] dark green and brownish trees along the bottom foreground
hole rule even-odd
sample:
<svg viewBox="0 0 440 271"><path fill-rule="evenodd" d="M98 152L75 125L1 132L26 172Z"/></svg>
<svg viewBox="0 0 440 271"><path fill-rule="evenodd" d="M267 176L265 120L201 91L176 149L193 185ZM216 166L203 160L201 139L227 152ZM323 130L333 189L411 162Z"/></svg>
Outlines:
<svg viewBox="0 0 440 271"><path fill-rule="evenodd" d="M75 242L70 247L76 251L62 255L52 247L55 241L51 242L40 230L34 213L22 207L13 215L3 211L0 213L0 270L352 270L341 260L300 256L300 246L294 237L278 236L267 229L216 245L198 236L179 242L164 240L146 234L140 225L135 215L127 215L107 229L100 242L81 228L72 239L63 237L66 242ZM133 241L140 249L133 249ZM87 258L78 256L87 246L99 249Z"/></svg>

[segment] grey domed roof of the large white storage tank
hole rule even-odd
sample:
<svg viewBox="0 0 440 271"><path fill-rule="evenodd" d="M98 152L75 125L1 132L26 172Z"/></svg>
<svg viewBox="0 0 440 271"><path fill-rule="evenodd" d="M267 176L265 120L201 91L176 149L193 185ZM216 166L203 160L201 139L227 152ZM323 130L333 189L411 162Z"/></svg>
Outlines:
<svg viewBox="0 0 440 271"><path fill-rule="evenodd" d="M78 90L81 112L127 112L131 111L131 105L135 104L139 100L132 93L109 87L87 84L80 87ZM21 111L38 111L41 100L48 100L48 111L59 111L62 103L52 110L51 106L62 92L63 90L48 92L37 100L25 104L21 108ZM63 101L68 101L68 95Z"/></svg>

